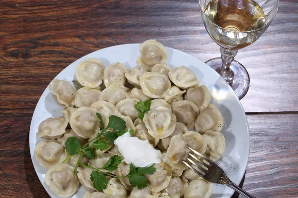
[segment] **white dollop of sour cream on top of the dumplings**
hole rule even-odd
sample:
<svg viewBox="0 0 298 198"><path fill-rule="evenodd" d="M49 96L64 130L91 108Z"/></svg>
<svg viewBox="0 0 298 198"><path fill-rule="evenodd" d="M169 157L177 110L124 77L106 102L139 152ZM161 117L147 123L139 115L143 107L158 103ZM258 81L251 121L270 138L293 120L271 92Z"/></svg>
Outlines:
<svg viewBox="0 0 298 198"><path fill-rule="evenodd" d="M118 137L114 144L123 155L127 164L134 164L136 167L146 167L153 163L160 163L161 152L150 145L148 140L140 140L132 137L129 132Z"/></svg>

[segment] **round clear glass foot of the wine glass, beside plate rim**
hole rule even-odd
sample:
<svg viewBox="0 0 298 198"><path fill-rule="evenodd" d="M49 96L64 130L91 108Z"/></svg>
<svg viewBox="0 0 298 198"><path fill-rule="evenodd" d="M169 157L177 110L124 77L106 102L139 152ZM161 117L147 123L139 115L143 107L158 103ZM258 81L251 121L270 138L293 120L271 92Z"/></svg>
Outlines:
<svg viewBox="0 0 298 198"><path fill-rule="evenodd" d="M222 67L223 61L222 58L213 58L206 62L207 65L212 67L214 70L218 71L218 68ZM225 79L231 88L234 90L238 99L242 99L249 88L249 75L245 67L241 65L236 60L233 60L230 64L231 73L234 75L234 79L231 81L231 78Z"/></svg>

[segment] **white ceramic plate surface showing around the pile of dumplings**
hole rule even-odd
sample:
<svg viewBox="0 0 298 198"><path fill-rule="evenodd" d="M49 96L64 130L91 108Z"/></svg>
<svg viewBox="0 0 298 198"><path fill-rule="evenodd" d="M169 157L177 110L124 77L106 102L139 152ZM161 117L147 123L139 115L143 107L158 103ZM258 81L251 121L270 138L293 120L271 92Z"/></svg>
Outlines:
<svg viewBox="0 0 298 198"><path fill-rule="evenodd" d="M69 81L74 85L74 71L77 64L90 57L101 59L106 66L119 61L128 68L135 67L137 57L140 55L140 45L127 44L94 51L70 64L56 78ZM211 67L182 51L171 48L166 49L168 52L167 65L170 67L185 65L195 72L201 84L205 84L210 90L212 95L211 103L215 104L222 112L225 122L222 132L226 140L226 148L219 165L234 183L239 184L246 169L250 143L248 123L240 101L224 79ZM30 126L29 144L32 162L39 180L52 198L58 197L44 181L47 170L36 161L34 148L43 140L36 138L38 125L49 117L63 116L62 109L63 107L55 102L49 87L47 87L36 105ZM84 193L85 190L80 186L73 198L82 198ZM230 198L232 194L233 190L228 187L215 184L211 198Z"/></svg>

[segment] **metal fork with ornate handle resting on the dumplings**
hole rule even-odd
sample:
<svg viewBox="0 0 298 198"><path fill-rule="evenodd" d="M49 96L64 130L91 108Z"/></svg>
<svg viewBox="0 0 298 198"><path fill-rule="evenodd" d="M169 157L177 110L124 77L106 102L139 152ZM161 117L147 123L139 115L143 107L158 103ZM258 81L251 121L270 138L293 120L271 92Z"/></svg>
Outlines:
<svg viewBox="0 0 298 198"><path fill-rule="evenodd" d="M237 191L238 193L240 193L241 195L243 195L245 198L255 198L252 195L250 195L249 193L247 193L246 191L242 190L239 186L237 186L236 184L234 184L225 174L224 170L217 165L214 161L210 160L208 157L202 155L201 153L199 153L198 151L194 150L191 147L188 147L191 151L193 151L195 154L199 155L200 157L202 157L204 160L206 160L206 162L204 162L203 160L199 159L198 157L196 157L194 154L189 153L189 155L197 160L197 163L191 159L190 157L187 158L187 160L192 163L193 165L196 166L196 168L194 168L193 166L191 166L190 164L188 164L186 161L182 161L185 165L187 165L190 169L192 169L195 173L197 173L199 176L201 176L203 179L212 182L212 183L217 183L217 184L222 184L224 186L227 186L235 191Z"/></svg>

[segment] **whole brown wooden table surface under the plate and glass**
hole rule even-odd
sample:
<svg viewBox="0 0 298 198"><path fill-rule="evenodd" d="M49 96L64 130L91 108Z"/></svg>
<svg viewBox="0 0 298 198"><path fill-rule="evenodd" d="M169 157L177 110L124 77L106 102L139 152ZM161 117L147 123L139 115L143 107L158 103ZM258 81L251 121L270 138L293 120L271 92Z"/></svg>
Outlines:
<svg viewBox="0 0 298 198"><path fill-rule="evenodd" d="M236 56L251 79L241 100L251 133L241 186L260 198L298 197L297 10L297 0L281 0L265 34ZM220 56L197 0L0 2L1 198L49 197L34 171L28 137L50 81L92 51L151 38L202 61Z"/></svg>

